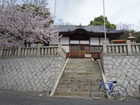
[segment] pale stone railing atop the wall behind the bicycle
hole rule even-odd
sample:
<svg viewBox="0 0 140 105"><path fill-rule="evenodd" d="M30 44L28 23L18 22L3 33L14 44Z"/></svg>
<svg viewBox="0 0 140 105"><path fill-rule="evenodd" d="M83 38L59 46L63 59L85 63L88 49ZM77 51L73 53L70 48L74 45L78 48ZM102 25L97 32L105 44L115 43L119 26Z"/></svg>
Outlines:
<svg viewBox="0 0 140 105"><path fill-rule="evenodd" d="M104 44L103 54L140 55L140 43L134 43L128 40L126 44Z"/></svg>

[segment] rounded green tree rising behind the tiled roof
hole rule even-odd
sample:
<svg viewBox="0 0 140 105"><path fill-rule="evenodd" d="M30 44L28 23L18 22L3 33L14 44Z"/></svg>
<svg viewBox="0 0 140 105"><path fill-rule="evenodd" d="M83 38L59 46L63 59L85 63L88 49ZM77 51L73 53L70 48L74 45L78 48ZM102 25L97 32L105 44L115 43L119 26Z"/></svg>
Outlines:
<svg viewBox="0 0 140 105"><path fill-rule="evenodd" d="M116 25L115 24L111 24L107 17L105 17L106 20L106 28L107 29L116 29ZM95 17L94 20L90 21L89 25L104 25L104 16L99 16L99 17Z"/></svg>

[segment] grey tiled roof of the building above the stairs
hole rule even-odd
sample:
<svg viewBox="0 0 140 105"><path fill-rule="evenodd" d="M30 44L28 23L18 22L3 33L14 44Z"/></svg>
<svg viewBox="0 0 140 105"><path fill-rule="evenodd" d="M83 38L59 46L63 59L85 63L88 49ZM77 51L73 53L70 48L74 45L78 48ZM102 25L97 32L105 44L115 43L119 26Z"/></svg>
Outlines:
<svg viewBox="0 0 140 105"><path fill-rule="evenodd" d="M76 25L58 25L59 32L70 32L75 31L77 29L84 29L88 32L95 32L95 33L104 33L103 26L76 26ZM122 30L107 30L107 33L120 33L123 32Z"/></svg>

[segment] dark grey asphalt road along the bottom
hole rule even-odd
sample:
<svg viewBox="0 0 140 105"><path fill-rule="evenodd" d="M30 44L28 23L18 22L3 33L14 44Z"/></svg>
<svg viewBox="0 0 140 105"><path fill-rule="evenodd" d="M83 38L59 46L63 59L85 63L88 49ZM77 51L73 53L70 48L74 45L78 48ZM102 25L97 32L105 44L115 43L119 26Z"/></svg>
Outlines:
<svg viewBox="0 0 140 105"><path fill-rule="evenodd" d="M140 105L140 98L115 101L108 99L40 97L25 93L0 91L0 105Z"/></svg>

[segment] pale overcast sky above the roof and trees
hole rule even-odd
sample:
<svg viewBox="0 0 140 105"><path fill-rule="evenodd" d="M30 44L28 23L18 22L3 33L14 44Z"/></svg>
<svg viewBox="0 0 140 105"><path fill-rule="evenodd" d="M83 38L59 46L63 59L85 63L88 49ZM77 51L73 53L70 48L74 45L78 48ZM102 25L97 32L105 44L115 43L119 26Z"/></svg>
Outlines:
<svg viewBox="0 0 140 105"><path fill-rule="evenodd" d="M54 1L48 0L51 13L54 13ZM56 0L56 20L65 23L88 25L94 17L103 14L103 0ZM140 30L140 0L105 0L106 16L114 24L133 24ZM60 21L59 21L60 23Z"/></svg>

